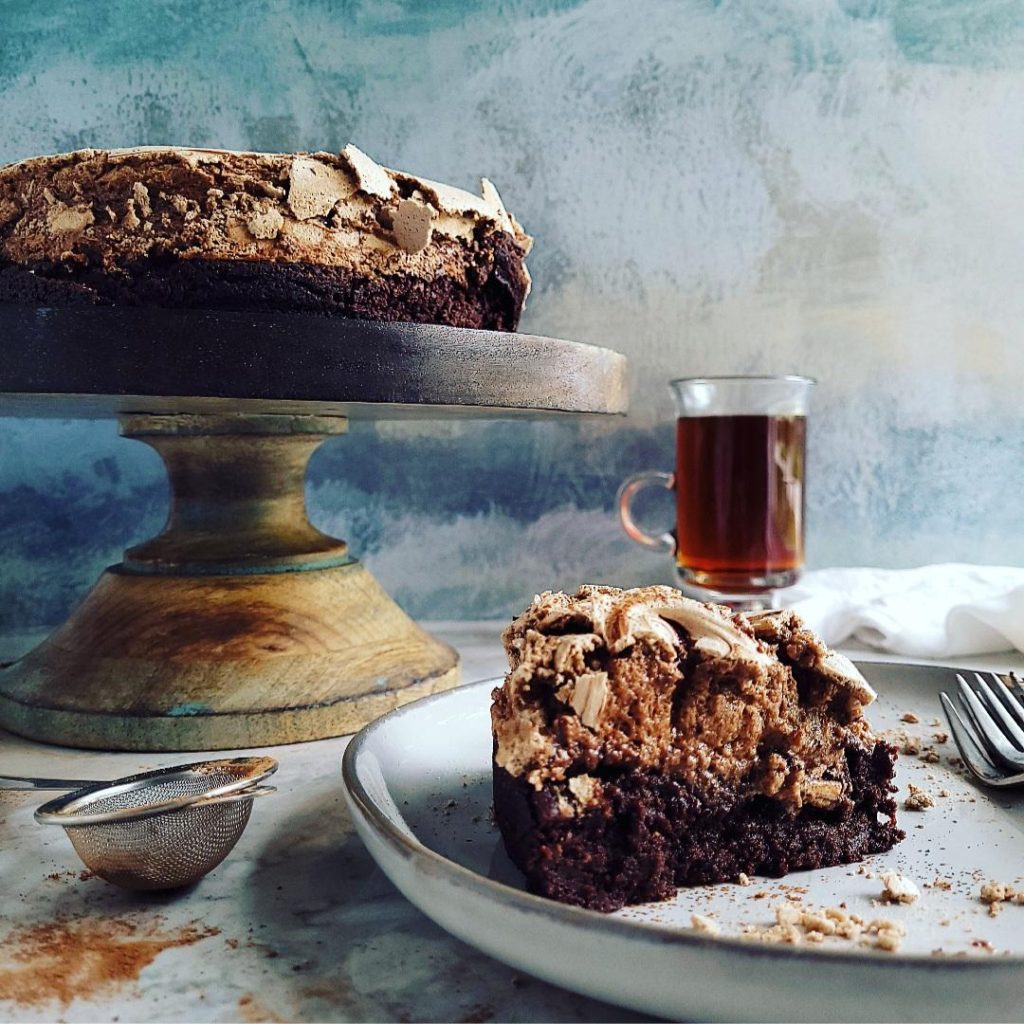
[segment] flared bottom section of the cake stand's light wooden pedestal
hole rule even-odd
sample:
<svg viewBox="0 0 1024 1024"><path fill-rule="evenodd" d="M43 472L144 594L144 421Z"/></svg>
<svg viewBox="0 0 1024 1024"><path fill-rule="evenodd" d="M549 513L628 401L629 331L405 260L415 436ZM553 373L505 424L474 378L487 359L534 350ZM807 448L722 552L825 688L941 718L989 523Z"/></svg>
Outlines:
<svg viewBox="0 0 1024 1024"><path fill-rule="evenodd" d="M458 681L456 652L358 563L269 577L108 569L0 673L0 721L69 746L263 746L354 732Z"/></svg>

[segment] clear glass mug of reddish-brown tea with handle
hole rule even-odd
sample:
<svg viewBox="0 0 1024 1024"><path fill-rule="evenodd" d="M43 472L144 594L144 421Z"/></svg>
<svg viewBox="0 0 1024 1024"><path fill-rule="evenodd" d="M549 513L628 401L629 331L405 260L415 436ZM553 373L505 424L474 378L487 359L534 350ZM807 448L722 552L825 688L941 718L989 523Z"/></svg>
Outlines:
<svg viewBox="0 0 1024 1024"><path fill-rule="evenodd" d="M807 377L673 381L676 472L637 473L618 489L626 532L675 555L681 589L703 601L762 607L804 566ZM633 518L644 487L676 493L676 528L651 535Z"/></svg>

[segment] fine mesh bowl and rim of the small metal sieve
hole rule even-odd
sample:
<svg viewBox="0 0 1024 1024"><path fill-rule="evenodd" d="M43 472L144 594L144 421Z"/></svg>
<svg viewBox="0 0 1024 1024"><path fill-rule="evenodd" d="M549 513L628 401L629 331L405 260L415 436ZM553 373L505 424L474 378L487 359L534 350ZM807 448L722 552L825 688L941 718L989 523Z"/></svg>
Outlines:
<svg viewBox="0 0 1024 1024"><path fill-rule="evenodd" d="M249 821L273 758L177 765L100 782L36 811L61 825L86 867L126 889L177 889L198 882L230 852Z"/></svg>

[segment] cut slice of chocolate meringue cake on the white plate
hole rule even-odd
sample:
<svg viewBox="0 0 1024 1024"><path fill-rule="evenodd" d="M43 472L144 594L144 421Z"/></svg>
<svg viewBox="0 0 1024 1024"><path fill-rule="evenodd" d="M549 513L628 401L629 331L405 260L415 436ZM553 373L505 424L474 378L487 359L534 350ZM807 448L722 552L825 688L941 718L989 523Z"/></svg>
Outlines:
<svg viewBox="0 0 1024 1024"><path fill-rule="evenodd" d="M503 641L495 817L534 892L614 910L903 838L874 692L793 612L583 587Z"/></svg>

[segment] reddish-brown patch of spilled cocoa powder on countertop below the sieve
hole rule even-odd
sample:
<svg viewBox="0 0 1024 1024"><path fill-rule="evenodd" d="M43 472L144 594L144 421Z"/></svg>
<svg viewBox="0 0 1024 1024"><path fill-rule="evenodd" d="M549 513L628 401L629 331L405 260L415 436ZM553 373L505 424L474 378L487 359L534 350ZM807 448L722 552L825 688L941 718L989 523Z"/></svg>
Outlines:
<svg viewBox="0 0 1024 1024"><path fill-rule="evenodd" d="M4 938L0 1000L23 1007L70 1005L138 980L165 949L217 935L198 922L166 929L126 918L81 918L17 928Z"/></svg>

